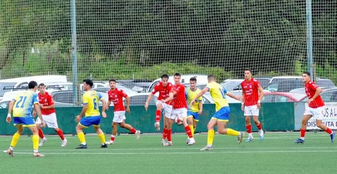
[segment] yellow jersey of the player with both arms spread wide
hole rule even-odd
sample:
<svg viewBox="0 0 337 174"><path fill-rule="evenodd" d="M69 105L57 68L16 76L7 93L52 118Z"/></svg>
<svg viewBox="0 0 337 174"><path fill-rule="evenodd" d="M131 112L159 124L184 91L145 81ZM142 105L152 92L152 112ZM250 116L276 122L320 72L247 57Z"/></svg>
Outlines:
<svg viewBox="0 0 337 174"><path fill-rule="evenodd" d="M221 108L229 106L226 99L226 94L228 92L219 83L210 82L207 84L206 88L209 89L209 93L215 103L215 111L219 111Z"/></svg>

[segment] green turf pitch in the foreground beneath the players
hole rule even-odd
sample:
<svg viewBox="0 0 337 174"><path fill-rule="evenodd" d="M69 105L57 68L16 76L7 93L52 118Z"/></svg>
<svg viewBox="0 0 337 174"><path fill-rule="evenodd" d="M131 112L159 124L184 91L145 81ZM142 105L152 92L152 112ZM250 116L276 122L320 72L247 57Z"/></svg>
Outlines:
<svg viewBox="0 0 337 174"><path fill-rule="evenodd" d="M337 145L325 132L307 132L304 144L295 144L299 133L269 133L264 140L253 133L254 141L236 144L236 137L216 135L212 151L200 151L207 135L195 135L197 143L186 145L187 136L173 134L173 146L163 147L161 135L116 136L115 144L100 148L98 136L86 135L87 149L75 149L77 136L66 136L61 147L57 136L46 136L33 158L32 138L22 136L14 158L0 155L2 173L337 173ZM0 138L2 150L11 142ZM110 139L106 135L106 140Z"/></svg>

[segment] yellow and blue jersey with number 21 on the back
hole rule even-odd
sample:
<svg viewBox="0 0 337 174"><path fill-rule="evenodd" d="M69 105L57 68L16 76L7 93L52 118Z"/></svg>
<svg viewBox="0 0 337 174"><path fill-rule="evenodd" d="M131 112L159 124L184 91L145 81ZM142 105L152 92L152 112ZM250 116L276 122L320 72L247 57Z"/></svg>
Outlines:
<svg viewBox="0 0 337 174"><path fill-rule="evenodd" d="M33 105L39 104L38 96L32 90L21 92L13 101L13 117L32 117Z"/></svg>

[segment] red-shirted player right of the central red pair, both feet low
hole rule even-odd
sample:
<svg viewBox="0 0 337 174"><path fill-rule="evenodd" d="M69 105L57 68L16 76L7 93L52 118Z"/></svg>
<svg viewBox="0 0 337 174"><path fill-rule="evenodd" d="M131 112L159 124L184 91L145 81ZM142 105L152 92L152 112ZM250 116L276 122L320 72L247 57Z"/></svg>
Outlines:
<svg viewBox="0 0 337 174"><path fill-rule="evenodd" d="M168 134L167 134L167 143L164 146L172 146L172 124L176 117L181 116L183 118L183 125L185 127L186 133L188 135L187 144L192 145L195 144L196 141L193 138L193 134L191 132L191 127L187 124L187 103L185 97L185 86L180 83L181 75L179 73L174 74L174 98L173 98L173 110L170 118L168 119ZM170 97L169 97L170 98ZM169 100L169 99L168 99Z"/></svg>

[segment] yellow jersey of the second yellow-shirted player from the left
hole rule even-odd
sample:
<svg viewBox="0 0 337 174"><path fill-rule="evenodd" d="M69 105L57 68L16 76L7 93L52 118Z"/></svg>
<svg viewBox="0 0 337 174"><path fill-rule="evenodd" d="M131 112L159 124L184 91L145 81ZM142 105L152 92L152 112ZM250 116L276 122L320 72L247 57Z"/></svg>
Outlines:
<svg viewBox="0 0 337 174"><path fill-rule="evenodd" d="M87 91L83 94L83 104L87 104L88 108L85 112L85 117L100 116L99 100L102 95L97 91Z"/></svg>

